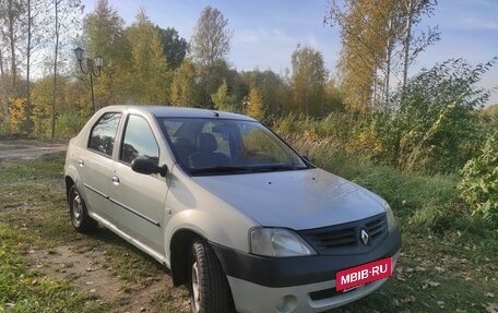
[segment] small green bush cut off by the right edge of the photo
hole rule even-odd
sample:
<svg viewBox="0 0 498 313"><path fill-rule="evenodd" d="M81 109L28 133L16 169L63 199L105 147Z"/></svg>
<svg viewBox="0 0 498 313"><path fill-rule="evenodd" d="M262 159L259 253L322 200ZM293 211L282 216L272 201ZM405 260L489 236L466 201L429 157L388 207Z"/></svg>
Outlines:
<svg viewBox="0 0 498 313"><path fill-rule="evenodd" d="M467 161L459 184L473 214L498 224L498 131L491 133L479 156Z"/></svg>

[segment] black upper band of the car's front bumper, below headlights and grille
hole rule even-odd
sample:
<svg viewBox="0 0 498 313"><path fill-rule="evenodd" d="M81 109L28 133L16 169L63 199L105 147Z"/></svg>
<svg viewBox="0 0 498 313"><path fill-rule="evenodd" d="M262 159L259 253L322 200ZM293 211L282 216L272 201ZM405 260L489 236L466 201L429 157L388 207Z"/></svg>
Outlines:
<svg viewBox="0 0 498 313"><path fill-rule="evenodd" d="M225 274L265 287L290 287L335 279L339 270L393 256L401 246L396 226L376 249L349 255L268 257L211 243Z"/></svg>

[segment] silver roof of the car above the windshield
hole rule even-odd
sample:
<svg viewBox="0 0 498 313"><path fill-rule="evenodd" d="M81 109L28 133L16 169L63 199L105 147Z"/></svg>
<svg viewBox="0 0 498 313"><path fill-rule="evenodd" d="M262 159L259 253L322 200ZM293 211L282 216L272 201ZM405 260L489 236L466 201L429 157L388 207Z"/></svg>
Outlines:
<svg viewBox="0 0 498 313"><path fill-rule="evenodd" d="M108 106L104 108L106 111L111 110L135 110L142 112L149 112L156 118L221 118L232 120L247 120L254 121L254 119L225 111L198 109L198 108L185 108L185 107L169 107L169 106Z"/></svg>

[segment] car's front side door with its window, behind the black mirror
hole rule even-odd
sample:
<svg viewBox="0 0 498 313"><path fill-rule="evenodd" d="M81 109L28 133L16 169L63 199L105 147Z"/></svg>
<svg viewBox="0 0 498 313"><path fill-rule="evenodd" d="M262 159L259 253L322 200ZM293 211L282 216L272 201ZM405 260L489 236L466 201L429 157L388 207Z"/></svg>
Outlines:
<svg viewBox="0 0 498 313"><path fill-rule="evenodd" d="M118 219L118 228L141 243L164 254L166 179L161 174L142 174L131 169L137 157L158 164L159 147L147 120L129 115L112 170L111 202Z"/></svg>

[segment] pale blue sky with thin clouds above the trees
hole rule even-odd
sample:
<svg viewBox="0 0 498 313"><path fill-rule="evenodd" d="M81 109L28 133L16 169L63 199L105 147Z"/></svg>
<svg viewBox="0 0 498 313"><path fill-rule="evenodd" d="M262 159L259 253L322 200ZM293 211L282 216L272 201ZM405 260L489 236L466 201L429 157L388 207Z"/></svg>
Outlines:
<svg viewBox="0 0 498 313"><path fill-rule="evenodd" d="M297 45L310 46L323 55L333 75L341 51L339 29L323 24L328 0L108 0L130 25L140 8L163 28L175 27L190 40L201 11L211 5L228 19L233 29L228 62L238 71L290 70L290 56ZM83 0L85 13L96 0ZM408 75L451 58L464 58L471 64L485 63L498 56L498 0L439 0L435 15L423 27L439 25L441 40L422 52ZM399 82L401 74L394 77ZM497 88L488 105L498 104L498 64L481 82Z"/></svg>

